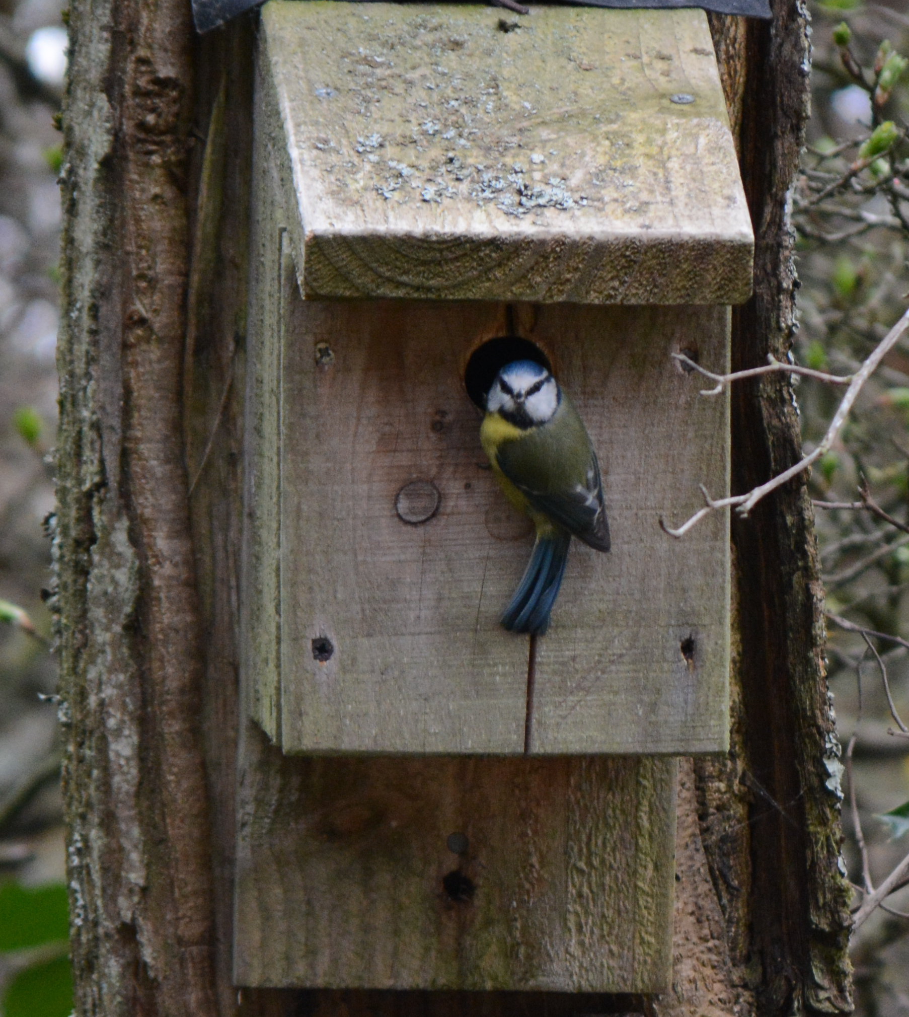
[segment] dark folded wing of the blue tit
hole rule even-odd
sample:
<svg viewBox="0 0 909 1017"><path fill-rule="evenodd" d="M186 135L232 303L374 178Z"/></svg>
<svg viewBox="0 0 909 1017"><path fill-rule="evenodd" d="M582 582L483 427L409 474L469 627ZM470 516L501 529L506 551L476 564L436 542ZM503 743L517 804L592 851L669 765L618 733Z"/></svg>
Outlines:
<svg viewBox="0 0 909 1017"><path fill-rule="evenodd" d="M532 473L522 469L521 460L524 457L520 454L525 450L521 445L522 442L512 441L499 446L496 463L502 473L537 512L548 516L553 523L564 527L579 540L583 540L598 551L608 551L609 521L603 505L600 467L593 450L590 452L583 483L578 480L567 480L553 485L541 483L544 477L534 477L536 471Z"/></svg>

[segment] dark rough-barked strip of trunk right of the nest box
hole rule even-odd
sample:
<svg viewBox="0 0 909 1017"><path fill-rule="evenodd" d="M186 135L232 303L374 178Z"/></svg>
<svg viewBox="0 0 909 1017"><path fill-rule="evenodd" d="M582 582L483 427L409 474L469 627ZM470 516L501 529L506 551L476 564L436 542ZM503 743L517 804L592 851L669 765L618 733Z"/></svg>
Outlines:
<svg viewBox="0 0 909 1017"><path fill-rule="evenodd" d="M778 0L771 25L748 25L740 159L756 238L754 296L733 318L733 370L766 363L768 353L786 357L797 327L788 202L809 113L806 20L801 0ZM734 391L732 445L733 493L800 458L788 380ZM761 965L762 1013L851 1009L839 745L827 693L823 589L805 484L802 475L762 502L750 519L734 516L732 530L744 783L752 795L751 956Z"/></svg>

